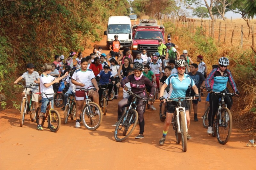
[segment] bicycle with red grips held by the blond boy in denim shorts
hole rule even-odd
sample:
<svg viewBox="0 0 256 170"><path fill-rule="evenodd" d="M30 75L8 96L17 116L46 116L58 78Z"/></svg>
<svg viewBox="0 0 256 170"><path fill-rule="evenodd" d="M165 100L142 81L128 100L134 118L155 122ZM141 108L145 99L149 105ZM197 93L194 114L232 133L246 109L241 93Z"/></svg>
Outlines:
<svg viewBox="0 0 256 170"><path fill-rule="evenodd" d="M55 92L55 93L61 93L61 92ZM52 104L51 104L51 98L48 98L47 95L54 95L54 94L45 94L42 92L36 93L36 94L44 94L46 98L49 100L46 106L46 112L43 116L43 121L42 121L42 127L44 126L44 122L47 119L48 122L48 128L52 132L57 132L60 129L60 114L57 110L52 109ZM38 107L36 109L36 123L38 125L39 123L39 113L41 112L41 108Z"/></svg>

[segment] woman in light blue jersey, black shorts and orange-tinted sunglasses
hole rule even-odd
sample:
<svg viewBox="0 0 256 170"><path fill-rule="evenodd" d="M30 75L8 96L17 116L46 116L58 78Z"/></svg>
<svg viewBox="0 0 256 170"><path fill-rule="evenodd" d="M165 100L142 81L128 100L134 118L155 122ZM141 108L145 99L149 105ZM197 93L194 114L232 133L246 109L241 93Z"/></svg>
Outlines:
<svg viewBox="0 0 256 170"><path fill-rule="evenodd" d="M170 91L168 94L169 98L177 98L177 97L186 97L186 91L188 89L188 86L191 86L192 89L195 92L195 98L199 97L198 89L195 85L195 82L191 79L191 77L188 74L185 74L186 69L186 61L185 60L177 60L175 62L175 67L178 70L178 73L172 74L164 81L164 84L162 85L160 89L160 100L165 102L165 98L163 96L165 88L170 85ZM178 100L177 100L178 101ZM164 122L164 128L163 128L163 137L159 141L159 145L164 145L165 137L169 129L169 125L172 121L173 112L175 111L175 106L178 106L178 103L176 101L168 102L167 103L167 110L166 110L166 119ZM185 107L186 110L186 118L187 118L187 125L189 127L190 124L190 118L189 118L189 112L186 102L183 102L182 107ZM187 139L192 139L192 137L187 133Z"/></svg>

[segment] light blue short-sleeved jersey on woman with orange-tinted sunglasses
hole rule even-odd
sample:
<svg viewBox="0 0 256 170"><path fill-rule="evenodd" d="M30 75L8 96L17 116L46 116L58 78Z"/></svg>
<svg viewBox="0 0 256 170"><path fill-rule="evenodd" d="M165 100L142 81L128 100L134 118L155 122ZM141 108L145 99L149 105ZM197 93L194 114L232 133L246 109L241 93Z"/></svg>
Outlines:
<svg viewBox="0 0 256 170"><path fill-rule="evenodd" d="M179 80L177 73L170 75L165 81L167 85L170 84L169 98L186 97L188 86L194 86L195 82L188 74L184 74L184 79ZM178 101L178 100L175 100Z"/></svg>

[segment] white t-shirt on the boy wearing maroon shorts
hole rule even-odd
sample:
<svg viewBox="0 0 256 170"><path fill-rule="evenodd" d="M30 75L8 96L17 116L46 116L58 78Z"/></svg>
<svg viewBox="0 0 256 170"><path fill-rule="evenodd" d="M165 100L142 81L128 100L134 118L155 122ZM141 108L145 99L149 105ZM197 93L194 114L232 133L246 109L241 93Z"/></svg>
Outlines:
<svg viewBox="0 0 256 170"><path fill-rule="evenodd" d="M84 86L76 85L76 88L89 88L92 86L92 79L95 78L93 71L91 69L87 69L86 71L81 71L81 68L76 70L72 76L72 79L76 80L79 83L83 83Z"/></svg>

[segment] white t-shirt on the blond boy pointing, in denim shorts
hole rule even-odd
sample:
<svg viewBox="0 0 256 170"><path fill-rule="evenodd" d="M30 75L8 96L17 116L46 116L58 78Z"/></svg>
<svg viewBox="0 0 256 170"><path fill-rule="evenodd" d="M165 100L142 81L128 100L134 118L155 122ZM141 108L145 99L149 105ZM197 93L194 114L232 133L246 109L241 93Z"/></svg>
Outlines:
<svg viewBox="0 0 256 170"><path fill-rule="evenodd" d="M44 74L41 74L40 76L40 92L41 93L45 93L45 94L52 94L52 95L47 95L47 97L53 97L53 87L52 85L49 87L45 87L44 84L47 83L51 83L53 80L55 79L55 77L51 76L51 75L47 75L45 76ZM41 96L43 98L46 98L46 96L44 94L41 94Z"/></svg>

